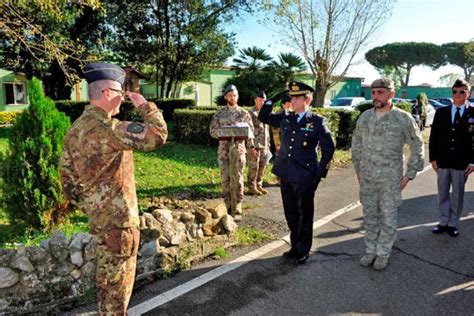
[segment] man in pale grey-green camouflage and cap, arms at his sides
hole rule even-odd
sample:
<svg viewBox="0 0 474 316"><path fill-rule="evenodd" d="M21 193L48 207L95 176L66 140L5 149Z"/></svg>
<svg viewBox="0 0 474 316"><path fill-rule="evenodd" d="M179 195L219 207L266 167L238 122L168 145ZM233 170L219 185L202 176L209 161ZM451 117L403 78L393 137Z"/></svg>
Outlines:
<svg viewBox="0 0 474 316"><path fill-rule="evenodd" d="M366 254L360 264L383 270L388 265L397 232L401 191L423 169L423 141L413 117L393 106L395 92L388 79L372 83L374 108L357 121L352 138L352 161L360 183L366 230ZM410 147L403 175L403 147Z"/></svg>

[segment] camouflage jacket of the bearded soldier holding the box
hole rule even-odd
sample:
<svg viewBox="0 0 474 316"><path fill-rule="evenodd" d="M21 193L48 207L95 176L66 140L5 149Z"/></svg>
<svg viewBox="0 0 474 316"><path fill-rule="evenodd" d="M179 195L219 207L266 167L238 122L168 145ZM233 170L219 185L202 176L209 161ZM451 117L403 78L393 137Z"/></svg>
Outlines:
<svg viewBox="0 0 474 316"><path fill-rule="evenodd" d="M247 123L252 132L254 132L252 118L250 117L249 112L238 105L233 108L226 105L222 107L222 109L219 109L212 117L211 125L209 126L209 133L211 134L211 137L218 138L217 130L220 127L235 125L236 123ZM237 143L240 154L245 154L247 148L254 146L253 138L247 140L236 140L235 142ZM230 141L228 140L219 141L219 151L228 150L229 143Z"/></svg>

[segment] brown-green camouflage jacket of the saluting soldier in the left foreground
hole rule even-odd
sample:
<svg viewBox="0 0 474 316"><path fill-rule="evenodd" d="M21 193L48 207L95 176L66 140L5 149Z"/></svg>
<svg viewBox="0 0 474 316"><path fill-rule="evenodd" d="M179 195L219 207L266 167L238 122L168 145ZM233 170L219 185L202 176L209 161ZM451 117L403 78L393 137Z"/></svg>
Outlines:
<svg viewBox="0 0 474 316"><path fill-rule="evenodd" d="M168 131L154 103L138 108L144 123L108 118L88 105L64 140L61 181L66 197L89 217L92 232L139 225L133 149L150 151L166 142Z"/></svg>

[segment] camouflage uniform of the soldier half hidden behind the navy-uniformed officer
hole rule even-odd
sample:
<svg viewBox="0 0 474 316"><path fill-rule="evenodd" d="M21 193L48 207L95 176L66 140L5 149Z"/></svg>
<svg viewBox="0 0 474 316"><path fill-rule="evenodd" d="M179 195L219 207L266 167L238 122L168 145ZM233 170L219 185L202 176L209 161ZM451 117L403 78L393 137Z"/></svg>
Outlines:
<svg viewBox="0 0 474 316"><path fill-rule="evenodd" d="M270 147L270 130L268 125L260 122L257 118L258 111L253 107L249 112L254 127L254 146L257 155L247 155L249 166L248 183L251 188L262 188L263 173L267 165L267 154Z"/></svg>

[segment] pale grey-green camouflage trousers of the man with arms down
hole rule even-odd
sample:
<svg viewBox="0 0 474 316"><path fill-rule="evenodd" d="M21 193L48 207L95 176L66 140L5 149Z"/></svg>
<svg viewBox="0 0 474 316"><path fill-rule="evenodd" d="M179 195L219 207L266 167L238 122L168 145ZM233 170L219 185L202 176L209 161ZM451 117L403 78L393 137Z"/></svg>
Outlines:
<svg viewBox="0 0 474 316"><path fill-rule="evenodd" d="M402 202L400 181L361 179L366 253L390 257L397 237L397 210Z"/></svg>

